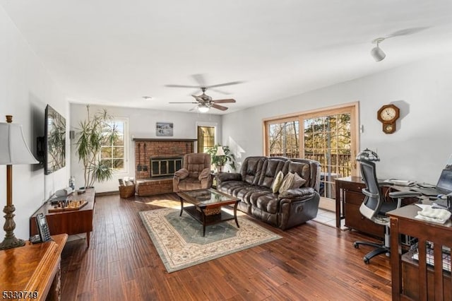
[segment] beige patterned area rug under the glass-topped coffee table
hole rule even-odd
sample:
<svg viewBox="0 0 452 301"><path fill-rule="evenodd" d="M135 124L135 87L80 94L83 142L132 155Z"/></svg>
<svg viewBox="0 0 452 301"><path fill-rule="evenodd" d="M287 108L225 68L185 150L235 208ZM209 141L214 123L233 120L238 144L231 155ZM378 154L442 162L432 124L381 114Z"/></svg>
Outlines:
<svg viewBox="0 0 452 301"><path fill-rule="evenodd" d="M168 273L282 238L247 218L206 226L174 208L141 211L140 216Z"/></svg>

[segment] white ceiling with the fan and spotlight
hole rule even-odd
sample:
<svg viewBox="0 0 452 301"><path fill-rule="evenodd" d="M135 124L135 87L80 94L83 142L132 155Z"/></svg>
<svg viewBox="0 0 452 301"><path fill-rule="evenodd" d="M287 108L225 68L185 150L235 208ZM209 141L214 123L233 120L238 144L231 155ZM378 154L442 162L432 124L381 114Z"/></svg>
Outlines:
<svg viewBox="0 0 452 301"><path fill-rule="evenodd" d="M0 0L71 102L234 112L452 51L451 0ZM408 33L405 35L400 35ZM388 37L386 59L369 52ZM150 95L153 100L143 100ZM221 114L218 110L211 113Z"/></svg>

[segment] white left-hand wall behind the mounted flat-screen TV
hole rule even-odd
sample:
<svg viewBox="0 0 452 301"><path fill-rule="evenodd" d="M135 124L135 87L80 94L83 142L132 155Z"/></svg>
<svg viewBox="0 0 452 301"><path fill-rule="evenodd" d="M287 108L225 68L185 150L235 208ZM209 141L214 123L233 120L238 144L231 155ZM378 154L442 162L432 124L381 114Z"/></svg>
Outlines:
<svg viewBox="0 0 452 301"><path fill-rule="evenodd" d="M16 26L0 6L0 122L13 115L13 122L22 124L32 153L36 153L36 137L44 135L44 109L47 104L66 117L69 128L69 105L51 80ZM13 166L13 204L16 206L16 237L28 239L29 218L56 190L66 187L69 179L69 138L66 167L44 176L39 165ZM6 167L0 166L0 208L6 205ZM4 218L1 214L0 225ZM0 234L3 240L4 232Z"/></svg>

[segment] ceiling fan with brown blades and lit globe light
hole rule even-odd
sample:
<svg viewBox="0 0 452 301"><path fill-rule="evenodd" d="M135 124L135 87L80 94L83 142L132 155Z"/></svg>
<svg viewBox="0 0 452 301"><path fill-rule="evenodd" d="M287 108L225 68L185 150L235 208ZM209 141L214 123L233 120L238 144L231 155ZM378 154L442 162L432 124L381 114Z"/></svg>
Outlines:
<svg viewBox="0 0 452 301"><path fill-rule="evenodd" d="M167 87L174 87L174 88L198 88L203 91L201 95L191 95L195 98L196 102L169 102L169 103L193 103L196 104L196 107L191 109L190 111L194 109L198 109L201 113L206 113L208 110L210 110L211 107L214 109L225 111L227 110L227 107L224 107L222 105L218 105L219 103L232 103L235 102L233 98L227 98L222 100L213 100L209 95L206 95L206 90L208 88L217 88L222 87L225 85L237 85L239 83L242 83L242 81L232 81L230 83L219 83L218 85L205 85L205 81L203 79L203 76L201 74L195 74L194 79L199 83L199 85L166 85ZM214 90L214 89L212 89ZM216 92L223 93L223 94L229 94L222 92L221 90L215 90Z"/></svg>

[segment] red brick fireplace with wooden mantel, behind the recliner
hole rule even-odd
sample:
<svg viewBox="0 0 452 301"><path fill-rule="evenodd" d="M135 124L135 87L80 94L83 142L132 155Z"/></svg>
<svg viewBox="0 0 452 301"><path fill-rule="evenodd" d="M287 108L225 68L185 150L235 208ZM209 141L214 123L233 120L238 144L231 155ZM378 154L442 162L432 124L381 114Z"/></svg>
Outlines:
<svg viewBox="0 0 452 301"><path fill-rule="evenodd" d="M133 138L135 178L138 196L172 192L173 170L182 167L182 158L194 153L196 139Z"/></svg>

